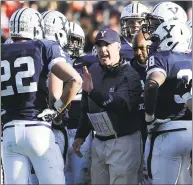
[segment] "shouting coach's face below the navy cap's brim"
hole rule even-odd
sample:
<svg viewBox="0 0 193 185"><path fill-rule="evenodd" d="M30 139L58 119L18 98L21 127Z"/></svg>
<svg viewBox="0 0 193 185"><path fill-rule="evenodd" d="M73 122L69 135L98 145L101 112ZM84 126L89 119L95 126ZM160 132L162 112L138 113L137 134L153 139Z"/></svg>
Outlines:
<svg viewBox="0 0 193 185"><path fill-rule="evenodd" d="M121 45L118 42L107 43L103 40L96 44L97 55L102 65L114 65L119 62Z"/></svg>

